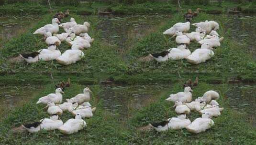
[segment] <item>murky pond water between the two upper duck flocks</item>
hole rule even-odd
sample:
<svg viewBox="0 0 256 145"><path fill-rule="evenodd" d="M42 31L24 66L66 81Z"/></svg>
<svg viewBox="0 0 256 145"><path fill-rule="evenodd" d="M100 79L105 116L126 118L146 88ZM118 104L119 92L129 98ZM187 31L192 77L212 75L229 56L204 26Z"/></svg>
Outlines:
<svg viewBox="0 0 256 145"><path fill-rule="evenodd" d="M102 30L102 39L117 44L120 51L170 19L170 15L100 16L97 29Z"/></svg>

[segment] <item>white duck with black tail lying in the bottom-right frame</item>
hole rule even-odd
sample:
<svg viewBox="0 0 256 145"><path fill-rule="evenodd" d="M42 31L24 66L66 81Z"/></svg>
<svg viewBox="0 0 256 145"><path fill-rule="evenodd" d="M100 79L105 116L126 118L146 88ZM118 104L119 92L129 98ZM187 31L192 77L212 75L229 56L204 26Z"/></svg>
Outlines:
<svg viewBox="0 0 256 145"><path fill-rule="evenodd" d="M160 123L149 124L152 126L157 132L166 131L168 129L182 129L191 124L190 120L186 118L186 114L180 114L178 117L169 118L167 121L163 121Z"/></svg>

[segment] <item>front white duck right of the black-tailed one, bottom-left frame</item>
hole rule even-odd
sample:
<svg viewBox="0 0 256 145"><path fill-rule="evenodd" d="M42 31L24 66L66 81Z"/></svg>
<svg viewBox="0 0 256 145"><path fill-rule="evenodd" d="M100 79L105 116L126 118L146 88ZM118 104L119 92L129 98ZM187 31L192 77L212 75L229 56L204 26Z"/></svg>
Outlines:
<svg viewBox="0 0 256 145"><path fill-rule="evenodd" d="M80 114L76 114L75 119L68 119L66 123L58 128L62 134L70 135L77 133L79 130L86 127L86 122L82 119Z"/></svg>

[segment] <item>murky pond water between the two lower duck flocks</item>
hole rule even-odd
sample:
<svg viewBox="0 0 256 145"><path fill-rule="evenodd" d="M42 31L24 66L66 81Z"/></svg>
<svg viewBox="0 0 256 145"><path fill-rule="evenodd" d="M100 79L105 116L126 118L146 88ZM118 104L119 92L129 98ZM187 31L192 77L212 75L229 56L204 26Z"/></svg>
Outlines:
<svg viewBox="0 0 256 145"><path fill-rule="evenodd" d="M131 109L140 109L155 101L156 98L170 90L171 85L106 85L101 97L104 99L104 108L113 113L129 117Z"/></svg>

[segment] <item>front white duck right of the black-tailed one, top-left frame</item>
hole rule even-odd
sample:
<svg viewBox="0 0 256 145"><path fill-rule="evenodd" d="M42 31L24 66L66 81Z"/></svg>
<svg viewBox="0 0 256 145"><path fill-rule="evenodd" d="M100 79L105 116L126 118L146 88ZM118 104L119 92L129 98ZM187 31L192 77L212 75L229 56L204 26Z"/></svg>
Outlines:
<svg viewBox="0 0 256 145"><path fill-rule="evenodd" d="M79 45L72 46L71 50L67 50L61 56L56 58L56 61L62 65L69 65L76 63L84 57L84 52L82 52Z"/></svg>

